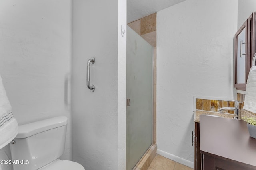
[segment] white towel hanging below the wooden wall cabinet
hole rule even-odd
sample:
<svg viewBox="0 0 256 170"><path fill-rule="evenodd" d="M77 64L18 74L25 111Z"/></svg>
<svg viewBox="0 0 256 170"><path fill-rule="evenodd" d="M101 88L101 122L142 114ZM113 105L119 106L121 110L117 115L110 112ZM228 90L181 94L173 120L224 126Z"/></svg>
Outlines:
<svg viewBox="0 0 256 170"><path fill-rule="evenodd" d="M256 113L256 66L252 66L247 78L243 109Z"/></svg>

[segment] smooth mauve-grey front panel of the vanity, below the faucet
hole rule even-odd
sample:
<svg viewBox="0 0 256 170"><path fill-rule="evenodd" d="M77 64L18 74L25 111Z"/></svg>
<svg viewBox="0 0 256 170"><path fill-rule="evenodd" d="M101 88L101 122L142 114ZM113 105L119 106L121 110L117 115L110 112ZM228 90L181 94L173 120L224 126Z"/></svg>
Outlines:
<svg viewBox="0 0 256 170"><path fill-rule="evenodd" d="M242 120L200 116L200 150L256 166L256 139Z"/></svg>

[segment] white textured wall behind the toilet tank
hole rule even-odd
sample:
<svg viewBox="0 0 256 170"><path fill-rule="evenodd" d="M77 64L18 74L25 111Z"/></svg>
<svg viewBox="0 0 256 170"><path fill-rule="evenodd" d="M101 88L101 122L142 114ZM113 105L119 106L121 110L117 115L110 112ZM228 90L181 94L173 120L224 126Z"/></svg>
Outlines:
<svg viewBox="0 0 256 170"><path fill-rule="evenodd" d="M71 2L0 1L0 74L14 117L22 125L68 116L65 159L72 159L65 89L71 70Z"/></svg>

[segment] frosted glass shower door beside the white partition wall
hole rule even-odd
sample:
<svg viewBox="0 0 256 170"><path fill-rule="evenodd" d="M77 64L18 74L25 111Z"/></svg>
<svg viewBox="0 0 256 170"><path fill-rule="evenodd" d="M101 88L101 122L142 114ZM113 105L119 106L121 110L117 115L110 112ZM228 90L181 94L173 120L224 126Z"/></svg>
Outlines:
<svg viewBox="0 0 256 170"><path fill-rule="evenodd" d="M152 46L127 26L126 170L152 144Z"/></svg>

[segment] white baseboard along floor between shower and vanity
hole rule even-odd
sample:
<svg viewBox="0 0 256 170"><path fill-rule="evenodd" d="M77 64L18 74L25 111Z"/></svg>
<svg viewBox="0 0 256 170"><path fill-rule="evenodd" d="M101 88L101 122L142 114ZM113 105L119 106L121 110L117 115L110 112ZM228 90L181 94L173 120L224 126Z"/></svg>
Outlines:
<svg viewBox="0 0 256 170"><path fill-rule="evenodd" d="M157 149L156 150L156 153L161 155L161 156L164 156L170 160L174 160L175 162L178 162L180 164L183 164L185 166L188 166L190 168L193 168L194 169L194 162L190 162L186 159L183 159L183 158L180 158L178 156L175 156L173 154L170 154L170 153L167 153L167 152L164 152L163 150L160 150L160 149Z"/></svg>

